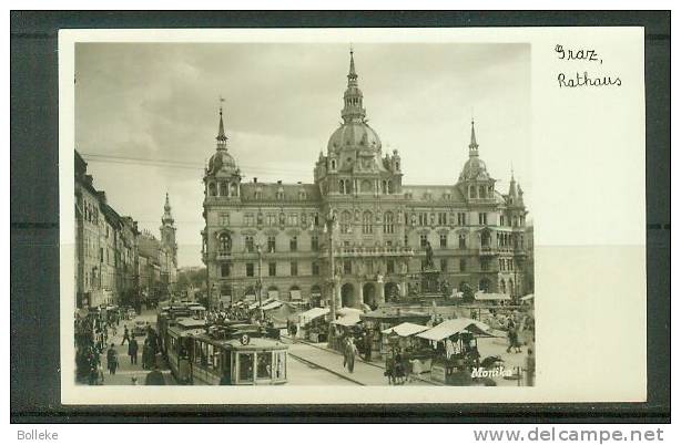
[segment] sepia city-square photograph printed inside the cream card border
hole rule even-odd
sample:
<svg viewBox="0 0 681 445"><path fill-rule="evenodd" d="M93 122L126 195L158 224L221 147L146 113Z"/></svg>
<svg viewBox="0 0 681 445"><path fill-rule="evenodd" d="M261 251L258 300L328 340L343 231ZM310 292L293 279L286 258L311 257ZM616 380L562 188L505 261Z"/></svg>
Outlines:
<svg viewBox="0 0 681 445"><path fill-rule="evenodd" d="M529 62L77 43L77 385L535 385Z"/></svg>

